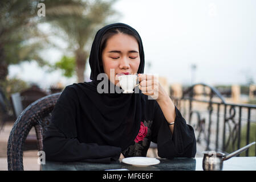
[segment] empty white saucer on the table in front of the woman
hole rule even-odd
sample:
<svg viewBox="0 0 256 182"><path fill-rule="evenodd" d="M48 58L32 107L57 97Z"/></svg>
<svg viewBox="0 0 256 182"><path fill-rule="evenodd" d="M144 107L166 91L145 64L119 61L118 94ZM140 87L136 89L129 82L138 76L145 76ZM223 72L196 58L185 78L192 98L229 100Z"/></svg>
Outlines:
<svg viewBox="0 0 256 182"><path fill-rule="evenodd" d="M144 167L159 164L160 160L156 158L132 157L124 158L122 162L125 164L131 164L133 166Z"/></svg>

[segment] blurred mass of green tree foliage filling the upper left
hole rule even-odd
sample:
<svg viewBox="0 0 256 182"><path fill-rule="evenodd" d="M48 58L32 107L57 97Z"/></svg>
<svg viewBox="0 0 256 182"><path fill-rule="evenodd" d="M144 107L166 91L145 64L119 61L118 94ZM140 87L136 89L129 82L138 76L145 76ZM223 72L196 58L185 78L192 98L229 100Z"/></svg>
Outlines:
<svg viewBox="0 0 256 182"><path fill-rule="evenodd" d="M86 46L91 43L96 30L108 24L109 16L117 15L112 9L114 2L116 0L1 0L0 80L5 80L10 64L35 60L40 66L50 66L39 52L46 47L57 46L48 39L52 34L67 41L68 51L74 53L76 59L79 57L76 64L86 65L90 53ZM46 6L46 16L38 16L38 3ZM50 23L51 30L55 31L44 34L39 29L39 23ZM84 56L80 56L81 53ZM71 77L75 69L73 62L67 57L63 61L67 65L58 63L56 68L63 69L64 76ZM81 73L85 67L78 69Z"/></svg>

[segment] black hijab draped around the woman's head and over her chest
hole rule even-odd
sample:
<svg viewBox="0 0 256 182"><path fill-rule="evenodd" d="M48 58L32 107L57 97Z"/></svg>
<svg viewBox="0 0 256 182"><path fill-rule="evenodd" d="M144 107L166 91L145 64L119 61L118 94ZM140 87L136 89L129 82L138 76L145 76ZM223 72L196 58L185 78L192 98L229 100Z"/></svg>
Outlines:
<svg viewBox="0 0 256 182"><path fill-rule="evenodd" d="M144 96L141 90L139 90L140 93L132 94L100 94L97 92L97 84L100 82L97 80L97 75L101 73L99 64L100 42L104 33L113 27L129 28L139 36L140 65L137 73L143 73L144 51L138 32L124 23L109 24L97 31L92 43L89 60L92 81L73 84L72 88L75 89L80 107L79 113L76 113L76 115L82 115L81 118L77 117L76 119L76 128L81 130L80 132L86 133L86 135L82 136L83 142L116 146L124 150L132 144L139 133L142 119L141 100ZM110 85L112 84L111 81L108 82Z"/></svg>

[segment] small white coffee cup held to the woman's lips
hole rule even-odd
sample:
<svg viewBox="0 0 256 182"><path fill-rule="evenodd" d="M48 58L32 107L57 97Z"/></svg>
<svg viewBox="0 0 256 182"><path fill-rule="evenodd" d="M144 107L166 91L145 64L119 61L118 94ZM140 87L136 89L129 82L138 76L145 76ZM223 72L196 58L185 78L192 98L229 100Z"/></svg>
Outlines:
<svg viewBox="0 0 256 182"><path fill-rule="evenodd" d="M137 75L122 75L119 76L119 84L124 90L123 93L133 93L133 89L136 85Z"/></svg>

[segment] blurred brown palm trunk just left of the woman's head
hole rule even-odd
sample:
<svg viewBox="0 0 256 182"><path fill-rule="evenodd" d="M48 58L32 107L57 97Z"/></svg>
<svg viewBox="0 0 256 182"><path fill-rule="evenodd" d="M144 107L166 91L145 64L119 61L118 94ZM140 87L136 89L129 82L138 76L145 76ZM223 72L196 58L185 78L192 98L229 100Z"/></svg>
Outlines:
<svg viewBox="0 0 256 182"><path fill-rule="evenodd" d="M76 76L78 82L84 82L84 71L86 70L87 53L83 49L77 49L76 55Z"/></svg>

